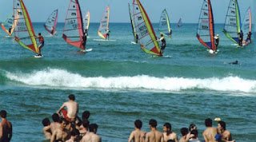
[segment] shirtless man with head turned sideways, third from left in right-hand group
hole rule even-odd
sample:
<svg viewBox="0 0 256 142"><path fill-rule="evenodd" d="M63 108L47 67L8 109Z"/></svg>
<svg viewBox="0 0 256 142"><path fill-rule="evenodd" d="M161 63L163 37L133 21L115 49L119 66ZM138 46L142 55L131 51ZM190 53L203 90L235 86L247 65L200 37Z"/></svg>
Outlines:
<svg viewBox="0 0 256 142"><path fill-rule="evenodd" d="M163 141L167 142L168 140L174 140L178 142L178 136L175 132L171 132L171 124L166 123L163 124Z"/></svg>

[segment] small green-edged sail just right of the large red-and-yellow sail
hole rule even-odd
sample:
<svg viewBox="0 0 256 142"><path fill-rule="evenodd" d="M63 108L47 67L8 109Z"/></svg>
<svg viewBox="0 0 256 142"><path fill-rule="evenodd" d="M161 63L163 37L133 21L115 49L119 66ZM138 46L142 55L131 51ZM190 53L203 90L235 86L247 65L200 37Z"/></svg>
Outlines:
<svg viewBox="0 0 256 142"><path fill-rule="evenodd" d="M159 29L158 32L160 34L169 36L170 35L170 21L166 10L162 11L160 21L159 21Z"/></svg>

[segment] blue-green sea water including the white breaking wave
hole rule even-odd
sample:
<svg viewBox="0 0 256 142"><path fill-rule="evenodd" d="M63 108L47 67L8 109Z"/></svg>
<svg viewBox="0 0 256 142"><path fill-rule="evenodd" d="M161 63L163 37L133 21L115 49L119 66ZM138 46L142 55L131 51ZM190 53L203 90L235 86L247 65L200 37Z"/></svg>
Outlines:
<svg viewBox="0 0 256 142"><path fill-rule="evenodd" d="M197 124L202 140L208 117L226 121L237 141L256 139L256 33L252 44L238 49L222 34L223 24L217 24L219 52L210 54L195 37L197 24L173 24L164 56L152 57L130 43L129 23L110 23L110 39L117 41L94 41L100 38L99 24L90 24L86 48L93 50L86 54L62 39L63 23L56 37L46 33L43 23L33 25L45 38L43 58L0 33L0 109L13 123L13 141L44 140L42 119L50 118L70 93L79 116L91 112L90 123L99 125L103 141L127 141L136 119L148 132L152 118L160 131L170 122L179 138L180 128ZM223 64L236 60L239 65Z"/></svg>

